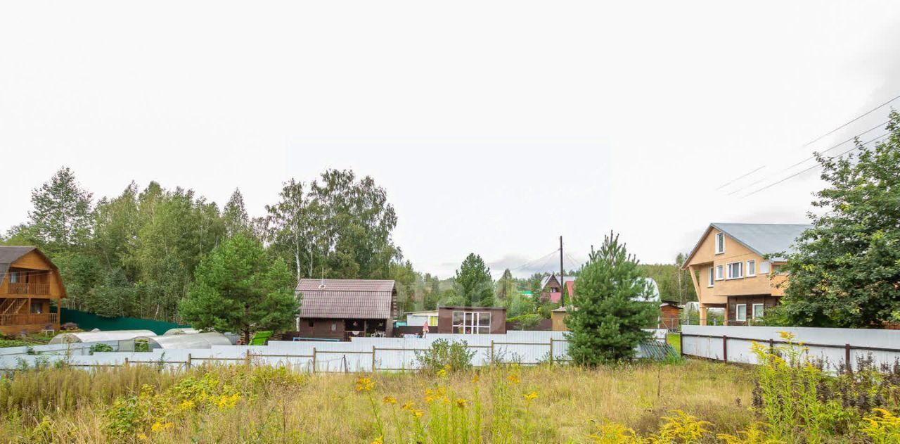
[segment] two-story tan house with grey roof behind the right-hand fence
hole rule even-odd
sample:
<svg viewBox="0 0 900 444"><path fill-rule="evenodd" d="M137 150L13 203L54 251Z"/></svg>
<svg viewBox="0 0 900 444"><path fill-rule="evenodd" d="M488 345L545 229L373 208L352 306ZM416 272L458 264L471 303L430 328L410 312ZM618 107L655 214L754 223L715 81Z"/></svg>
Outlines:
<svg viewBox="0 0 900 444"><path fill-rule="evenodd" d="M712 223L690 252L684 268L697 289L700 324L707 309L725 309L725 323L747 325L779 303L788 276L779 266L794 241L811 225ZM769 258L765 258L770 255Z"/></svg>

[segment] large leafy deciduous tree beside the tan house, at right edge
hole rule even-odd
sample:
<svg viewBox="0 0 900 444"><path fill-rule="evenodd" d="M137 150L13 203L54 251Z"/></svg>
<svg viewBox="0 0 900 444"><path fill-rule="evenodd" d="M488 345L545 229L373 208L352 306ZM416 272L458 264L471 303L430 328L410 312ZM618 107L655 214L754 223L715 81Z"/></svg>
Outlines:
<svg viewBox="0 0 900 444"><path fill-rule="evenodd" d="M900 114L870 148L846 158L816 154L828 186L816 193L813 228L797 240L780 322L880 328L900 322ZM768 317L768 316L767 316Z"/></svg>

